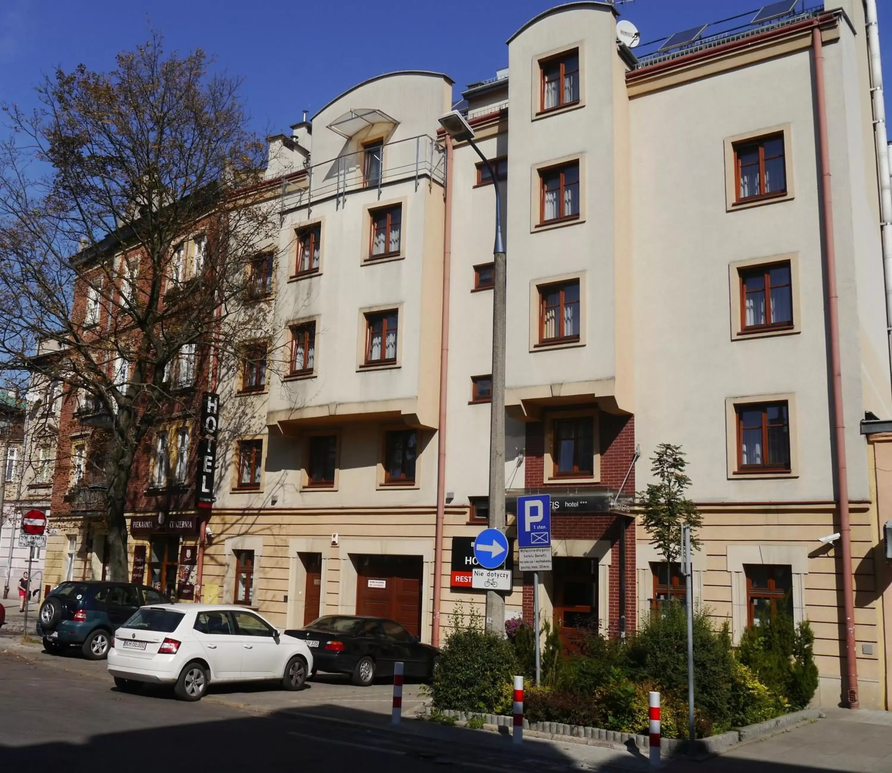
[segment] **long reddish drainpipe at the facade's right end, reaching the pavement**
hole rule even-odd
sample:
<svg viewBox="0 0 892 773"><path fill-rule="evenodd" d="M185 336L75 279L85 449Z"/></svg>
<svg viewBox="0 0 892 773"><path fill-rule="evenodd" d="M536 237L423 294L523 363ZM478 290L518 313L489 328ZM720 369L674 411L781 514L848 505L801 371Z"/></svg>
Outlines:
<svg viewBox="0 0 892 773"><path fill-rule="evenodd" d="M827 96L824 92L824 52L820 23L812 30L814 89L818 107L818 142L821 147L822 226L827 261L827 304L830 318L830 367L833 370L833 423L839 508L839 541L842 544L842 591L846 615L847 706L858 708L858 663L855 652L855 604L852 595L852 529L848 513L846 468L846 418L842 401L842 368L839 364L839 296L836 281L836 246L833 235L833 198L830 187L830 145L827 135Z"/></svg>

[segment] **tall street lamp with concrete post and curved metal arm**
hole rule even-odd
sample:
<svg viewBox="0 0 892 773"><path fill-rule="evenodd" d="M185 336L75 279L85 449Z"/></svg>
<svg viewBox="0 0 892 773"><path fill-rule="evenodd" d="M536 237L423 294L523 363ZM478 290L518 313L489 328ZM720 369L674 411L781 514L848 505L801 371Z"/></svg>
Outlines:
<svg viewBox="0 0 892 773"><path fill-rule="evenodd" d="M490 160L474 142L474 129L458 110L440 119L443 129L455 142L467 142L490 170L496 195L496 240L492 248L492 373L490 414L490 528L505 529L505 245L501 233L501 191L499 178ZM451 174L452 170L449 170ZM486 628L505 632L505 599L486 591Z"/></svg>

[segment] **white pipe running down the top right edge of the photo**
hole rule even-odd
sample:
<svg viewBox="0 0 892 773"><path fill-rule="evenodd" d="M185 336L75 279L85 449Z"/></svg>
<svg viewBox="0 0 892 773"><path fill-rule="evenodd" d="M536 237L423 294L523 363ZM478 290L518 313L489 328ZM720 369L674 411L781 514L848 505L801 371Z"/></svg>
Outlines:
<svg viewBox="0 0 892 773"><path fill-rule="evenodd" d="M873 135L877 143L880 175L880 237L883 248L883 275L886 280L886 334L892 357L892 185L889 180L889 149L886 131L886 99L883 96L883 67L880 60L880 32L877 26L877 0L865 0L867 54L871 60ZM892 375L892 359L889 361Z"/></svg>

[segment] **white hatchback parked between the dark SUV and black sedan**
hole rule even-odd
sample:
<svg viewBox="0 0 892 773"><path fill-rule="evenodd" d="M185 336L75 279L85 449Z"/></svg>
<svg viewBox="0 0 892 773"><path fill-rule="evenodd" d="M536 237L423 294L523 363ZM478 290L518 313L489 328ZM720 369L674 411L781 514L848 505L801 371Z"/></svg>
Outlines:
<svg viewBox="0 0 892 773"><path fill-rule="evenodd" d="M151 682L198 701L211 682L277 679L285 690L300 690L313 656L301 639L244 607L158 604L141 607L115 631L108 669L128 693Z"/></svg>

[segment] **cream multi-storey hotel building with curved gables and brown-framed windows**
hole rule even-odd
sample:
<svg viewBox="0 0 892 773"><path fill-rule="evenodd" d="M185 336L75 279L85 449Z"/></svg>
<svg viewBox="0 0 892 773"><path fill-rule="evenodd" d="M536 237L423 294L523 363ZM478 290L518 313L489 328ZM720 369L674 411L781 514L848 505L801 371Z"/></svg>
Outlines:
<svg viewBox="0 0 892 773"><path fill-rule="evenodd" d="M835 705L847 667L841 551L819 541L839 531L820 44L860 701L888 707L892 482L883 436L861 428L868 411L892 419L878 158L862 4L827 8L637 58L611 4L560 5L458 107L504 198L508 511L516 495L553 497L546 619L621 635L678 593L631 513L656 446L680 444L705 519L695 601L735 639L772 605L808 619L814 702ZM279 334L219 387L206 602L288 627L383 614L425 641L436 583L443 627L459 605L482 609L462 552L485 524L495 204L488 170L439 129L451 106L447 76L395 72L270 138L282 227L259 247L272 270L253 302ZM252 431L227 436L245 416ZM515 571L509 616L532 613L529 582Z"/></svg>

